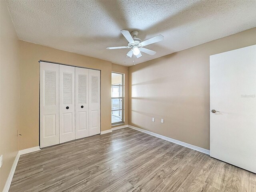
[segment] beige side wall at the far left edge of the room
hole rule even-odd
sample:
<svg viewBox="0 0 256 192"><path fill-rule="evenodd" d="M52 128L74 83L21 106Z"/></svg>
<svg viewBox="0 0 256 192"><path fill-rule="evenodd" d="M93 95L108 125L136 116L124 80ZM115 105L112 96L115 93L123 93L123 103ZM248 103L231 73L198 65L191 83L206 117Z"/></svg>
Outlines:
<svg viewBox="0 0 256 192"><path fill-rule="evenodd" d="M18 153L19 41L5 1L0 1L0 191Z"/></svg>

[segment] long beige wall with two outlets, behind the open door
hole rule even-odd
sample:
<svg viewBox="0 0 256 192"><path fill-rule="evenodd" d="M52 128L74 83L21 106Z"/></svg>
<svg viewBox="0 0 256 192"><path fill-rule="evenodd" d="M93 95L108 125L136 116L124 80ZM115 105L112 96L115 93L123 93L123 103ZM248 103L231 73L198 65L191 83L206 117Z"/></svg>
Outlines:
<svg viewBox="0 0 256 192"><path fill-rule="evenodd" d="M209 149L209 56L253 44L256 28L130 66L129 124Z"/></svg>

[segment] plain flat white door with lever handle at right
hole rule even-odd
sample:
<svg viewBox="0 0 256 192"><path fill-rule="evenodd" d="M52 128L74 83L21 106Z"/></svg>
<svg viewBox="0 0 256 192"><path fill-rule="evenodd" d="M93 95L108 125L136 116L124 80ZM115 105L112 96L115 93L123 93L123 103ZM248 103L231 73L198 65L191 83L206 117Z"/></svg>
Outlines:
<svg viewBox="0 0 256 192"><path fill-rule="evenodd" d="M210 156L256 173L256 45L210 56Z"/></svg>

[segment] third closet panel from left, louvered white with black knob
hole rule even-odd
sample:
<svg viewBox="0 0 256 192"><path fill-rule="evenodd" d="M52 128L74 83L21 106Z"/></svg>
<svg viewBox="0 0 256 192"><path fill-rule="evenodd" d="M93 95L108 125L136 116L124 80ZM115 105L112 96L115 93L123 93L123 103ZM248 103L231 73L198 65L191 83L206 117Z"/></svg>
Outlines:
<svg viewBox="0 0 256 192"><path fill-rule="evenodd" d="M76 67L76 139L89 136L89 70Z"/></svg>

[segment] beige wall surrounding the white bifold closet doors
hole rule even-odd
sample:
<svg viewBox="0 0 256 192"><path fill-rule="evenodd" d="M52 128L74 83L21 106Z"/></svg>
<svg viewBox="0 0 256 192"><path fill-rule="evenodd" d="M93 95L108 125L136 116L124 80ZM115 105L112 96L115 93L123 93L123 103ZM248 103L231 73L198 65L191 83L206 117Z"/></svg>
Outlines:
<svg viewBox="0 0 256 192"><path fill-rule="evenodd" d="M111 62L20 41L20 150L39 144L39 60L100 69L101 131L111 129Z"/></svg>

